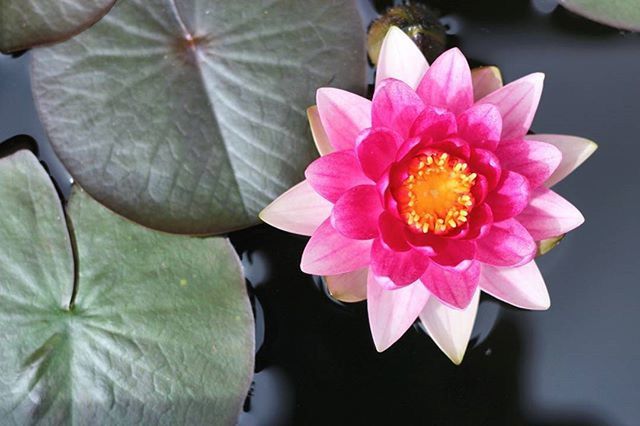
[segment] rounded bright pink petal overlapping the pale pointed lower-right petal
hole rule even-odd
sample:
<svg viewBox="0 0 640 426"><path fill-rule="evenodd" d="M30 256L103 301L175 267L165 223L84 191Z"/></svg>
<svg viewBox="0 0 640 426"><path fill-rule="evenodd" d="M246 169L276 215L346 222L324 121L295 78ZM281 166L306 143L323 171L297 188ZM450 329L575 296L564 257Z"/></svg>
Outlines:
<svg viewBox="0 0 640 426"><path fill-rule="evenodd" d="M536 255L536 243L515 219L494 223L489 233L476 241L476 259L493 266L520 266Z"/></svg>

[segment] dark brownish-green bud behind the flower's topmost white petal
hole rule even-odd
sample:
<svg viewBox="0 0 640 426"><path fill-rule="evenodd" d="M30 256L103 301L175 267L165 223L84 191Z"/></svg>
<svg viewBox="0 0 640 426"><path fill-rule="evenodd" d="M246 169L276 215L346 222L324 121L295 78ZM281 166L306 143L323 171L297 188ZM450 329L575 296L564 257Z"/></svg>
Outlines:
<svg viewBox="0 0 640 426"><path fill-rule="evenodd" d="M395 6L373 21L369 27L367 50L374 65L378 62L382 40L392 26L404 31L420 48L429 62L438 57L446 48L446 29L438 21L438 17L433 11L419 3Z"/></svg>

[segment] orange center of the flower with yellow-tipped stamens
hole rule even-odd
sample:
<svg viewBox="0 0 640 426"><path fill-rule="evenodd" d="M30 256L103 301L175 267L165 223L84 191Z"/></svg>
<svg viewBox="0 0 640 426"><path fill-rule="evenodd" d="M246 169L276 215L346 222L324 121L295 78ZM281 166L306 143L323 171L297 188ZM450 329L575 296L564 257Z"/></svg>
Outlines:
<svg viewBox="0 0 640 426"><path fill-rule="evenodd" d="M407 224L423 233L444 234L468 220L477 175L447 153L421 154L408 167L398 207Z"/></svg>

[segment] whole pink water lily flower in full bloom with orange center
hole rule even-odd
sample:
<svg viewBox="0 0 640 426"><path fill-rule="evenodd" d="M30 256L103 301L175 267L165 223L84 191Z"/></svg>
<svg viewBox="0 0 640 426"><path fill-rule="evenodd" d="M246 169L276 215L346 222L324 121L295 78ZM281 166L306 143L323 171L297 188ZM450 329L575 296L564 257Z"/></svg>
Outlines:
<svg viewBox="0 0 640 426"><path fill-rule="evenodd" d="M497 69L472 73L458 49L429 66L392 28L372 101L318 90L309 119L322 156L261 218L311 236L301 268L325 276L335 297L367 299L378 351L419 318L460 363L480 291L549 307L536 242L584 221L549 187L596 146L527 135L543 79L502 87Z"/></svg>

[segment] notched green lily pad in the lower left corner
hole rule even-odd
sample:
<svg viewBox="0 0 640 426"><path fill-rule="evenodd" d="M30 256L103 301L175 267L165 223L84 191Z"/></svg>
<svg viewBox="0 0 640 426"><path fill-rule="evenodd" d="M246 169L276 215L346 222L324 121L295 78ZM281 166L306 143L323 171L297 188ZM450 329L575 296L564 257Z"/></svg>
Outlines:
<svg viewBox="0 0 640 426"><path fill-rule="evenodd" d="M69 234L27 151L0 160L0 206L0 423L235 423L254 328L226 239L151 231L77 189Z"/></svg>

